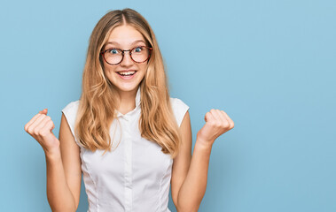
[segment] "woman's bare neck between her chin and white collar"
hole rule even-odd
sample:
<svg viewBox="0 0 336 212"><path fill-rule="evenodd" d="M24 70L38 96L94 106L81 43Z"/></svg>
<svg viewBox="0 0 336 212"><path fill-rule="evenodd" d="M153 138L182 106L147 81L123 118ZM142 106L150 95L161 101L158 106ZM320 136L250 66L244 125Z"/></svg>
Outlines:
<svg viewBox="0 0 336 212"><path fill-rule="evenodd" d="M136 108L137 88L132 91L118 91L120 96L119 109L122 114L126 114Z"/></svg>

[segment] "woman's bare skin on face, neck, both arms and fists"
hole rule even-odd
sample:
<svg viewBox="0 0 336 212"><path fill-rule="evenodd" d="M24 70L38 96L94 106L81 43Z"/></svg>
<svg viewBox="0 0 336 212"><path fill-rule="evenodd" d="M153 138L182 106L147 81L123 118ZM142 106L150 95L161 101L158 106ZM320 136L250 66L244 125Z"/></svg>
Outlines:
<svg viewBox="0 0 336 212"><path fill-rule="evenodd" d="M137 40L142 42L133 43ZM137 44L145 44L145 39L136 29L121 26L113 29L105 49L111 47L132 49ZM137 64L125 54L121 64L104 64L105 75L117 88L121 97L119 110L126 114L136 107L137 87L145 76L146 63ZM133 79L121 79L116 72L137 71ZM25 131L37 140L43 148L47 164L47 196L52 211L75 211L81 193L80 148L74 141L66 117L62 115L59 140L52 133L54 124L47 116L48 110L39 111L25 125ZM171 177L172 199L177 211L198 211L207 188L207 170L211 149L215 140L234 127L231 118L223 110L210 110L205 115L205 125L197 133L193 154L191 155L191 120L186 112L179 128L181 148L174 159Z"/></svg>

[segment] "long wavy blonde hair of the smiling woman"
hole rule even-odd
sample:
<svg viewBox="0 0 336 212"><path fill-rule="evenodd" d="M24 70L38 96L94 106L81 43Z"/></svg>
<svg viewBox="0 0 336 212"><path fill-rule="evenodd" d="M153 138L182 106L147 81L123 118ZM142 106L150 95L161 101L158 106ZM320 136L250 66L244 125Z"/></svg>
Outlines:
<svg viewBox="0 0 336 212"><path fill-rule="evenodd" d="M83 148L91 151L111 151L113 140L109 128L116 118L119 95L106 78L101 49L113 28L129 25L143 34L152 54L140 82L141 116L139 130L146 140L156 142L161 151L177 155L180 138L178 126L170 105L167 76L158 43L152 28L137 11L126 8L109 11L103 16L90 35L86 63L82 75L82 95L77 112L75 133ZM105 154L104 152L104 154Z"/></svg>

